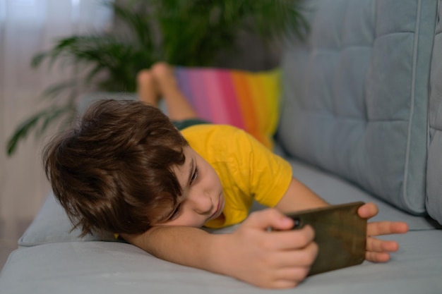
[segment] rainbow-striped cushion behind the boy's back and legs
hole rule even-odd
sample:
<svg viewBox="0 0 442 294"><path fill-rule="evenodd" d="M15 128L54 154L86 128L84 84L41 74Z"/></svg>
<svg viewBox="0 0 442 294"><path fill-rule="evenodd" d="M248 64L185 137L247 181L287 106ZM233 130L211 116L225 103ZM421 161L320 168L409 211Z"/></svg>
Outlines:
<svg viewBox="0 0 442 294"><path fill-rule="evenodd" d="M280 105L280 71L176 67L179 87L201 118L246 130L270 149Z"/></svg>

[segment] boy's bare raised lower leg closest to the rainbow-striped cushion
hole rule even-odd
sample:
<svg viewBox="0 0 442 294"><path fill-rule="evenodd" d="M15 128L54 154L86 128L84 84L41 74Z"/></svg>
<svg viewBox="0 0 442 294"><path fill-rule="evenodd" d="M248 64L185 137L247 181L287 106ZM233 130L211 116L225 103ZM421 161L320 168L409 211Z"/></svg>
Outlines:
<svg viewBox="0 0 442 294"><path fill-rule="evenodd" d="M167 112L172 121L198 118L196 111L179 90L172 66L164 62L156 63L152 68L152 73L159 92L165 99Z"/></svg>

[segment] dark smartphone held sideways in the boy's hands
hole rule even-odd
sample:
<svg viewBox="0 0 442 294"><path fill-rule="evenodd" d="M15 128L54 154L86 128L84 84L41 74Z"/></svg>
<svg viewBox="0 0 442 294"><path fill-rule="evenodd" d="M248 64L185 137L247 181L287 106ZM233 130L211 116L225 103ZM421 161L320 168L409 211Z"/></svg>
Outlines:
<svg viewBox="0 0 442 294"><path fill-rule="evenodd" d="M309 276L364 262L367 221L357 214L363 204L352 202L287 214L294 220L294 230L309 225L315 231L319 252Z"/></svg>

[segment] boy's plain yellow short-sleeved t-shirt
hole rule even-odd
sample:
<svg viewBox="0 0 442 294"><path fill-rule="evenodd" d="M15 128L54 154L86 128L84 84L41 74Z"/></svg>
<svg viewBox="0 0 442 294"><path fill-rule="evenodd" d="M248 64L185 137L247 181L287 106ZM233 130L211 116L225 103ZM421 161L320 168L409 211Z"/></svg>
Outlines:
<svg viewBox="0 0 442 294"><path fill-rule="evenodd" d="M244 221L253 198L274 207L289 188L292 167L254 137L230 125L193 125L181 130L189 145L213 166L225 196L225 220L205 223L222 228Z"/></svg>

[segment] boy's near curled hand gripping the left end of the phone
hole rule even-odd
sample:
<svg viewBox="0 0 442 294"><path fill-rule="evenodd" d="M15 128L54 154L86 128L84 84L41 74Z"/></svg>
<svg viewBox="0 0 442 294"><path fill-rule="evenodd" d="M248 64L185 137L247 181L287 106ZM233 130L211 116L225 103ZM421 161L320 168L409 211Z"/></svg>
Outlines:
<svg viewBox="0 0 442 294"><path fill-rule="evenodd" d="M276 209L254 212L237 231L215 243L222 274L262 288L293 288L309 273L318 254L310 226L294 223ZM268 228L278 231L268 231Z"/></svg>

